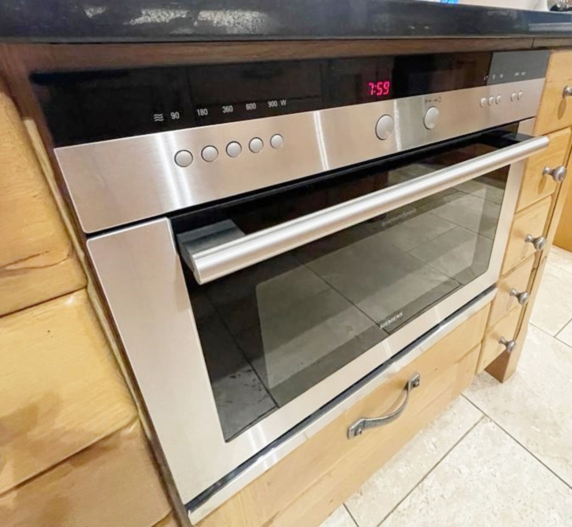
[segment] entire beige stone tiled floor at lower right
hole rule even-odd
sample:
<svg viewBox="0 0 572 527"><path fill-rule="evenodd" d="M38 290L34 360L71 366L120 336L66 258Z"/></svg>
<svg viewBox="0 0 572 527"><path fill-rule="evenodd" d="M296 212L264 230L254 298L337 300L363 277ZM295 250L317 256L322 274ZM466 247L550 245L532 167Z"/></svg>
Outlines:
<svg viewBox="0 0 572 527"><path fill-rule="evenodd" d="M572 527L572 253L554 247L517 373L483 372L322 527Z"/></svg>

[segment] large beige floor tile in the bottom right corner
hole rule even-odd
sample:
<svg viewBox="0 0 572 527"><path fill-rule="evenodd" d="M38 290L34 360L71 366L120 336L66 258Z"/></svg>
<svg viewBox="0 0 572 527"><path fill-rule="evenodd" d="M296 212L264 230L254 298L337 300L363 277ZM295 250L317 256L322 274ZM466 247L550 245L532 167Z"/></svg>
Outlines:
<svg viewBox="0 0 572 527"><path fill-rule="evenodd" d="M572 490L483 419L382 527L569 526Z"/></svg>

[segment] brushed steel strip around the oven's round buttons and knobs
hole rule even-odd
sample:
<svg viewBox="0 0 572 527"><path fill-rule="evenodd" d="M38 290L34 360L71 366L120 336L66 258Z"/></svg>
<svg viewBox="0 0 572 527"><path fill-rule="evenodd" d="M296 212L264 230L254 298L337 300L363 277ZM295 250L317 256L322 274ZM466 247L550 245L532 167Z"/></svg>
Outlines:
<svg viewBox="0 0 572 527"><path fill-rule="evenodd" d="M266 186L381 158L444 139L521 121L537 111L544 79L481 86L391 101L377 101L252 121L168 131L55 149L82 229L97 232ZM523 91L511 101L513 91ZM480 106L483 97L501 95L500 104ZM425 111L439 109L439 124L423 126ZM391 115L395 130L382 141L375 133L381 115ZM284 145L273 149L272 135ZM264 149L248 149L260 137ZM238 141L235 158L226 146ZM216 161L201 150L213 145ZM174 162L189 150L188 167Z"/></svg>

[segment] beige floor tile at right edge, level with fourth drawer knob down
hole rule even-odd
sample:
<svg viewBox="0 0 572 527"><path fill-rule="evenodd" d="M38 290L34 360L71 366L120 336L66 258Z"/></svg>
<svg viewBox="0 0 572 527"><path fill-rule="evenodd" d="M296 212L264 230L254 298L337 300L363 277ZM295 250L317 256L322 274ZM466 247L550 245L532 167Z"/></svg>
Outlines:
<svg viewBox="0 0 572 527"><path fill-rule="evenodd" d="M530 323L555 336L572 317L572 274L546 265Z"/></svg>

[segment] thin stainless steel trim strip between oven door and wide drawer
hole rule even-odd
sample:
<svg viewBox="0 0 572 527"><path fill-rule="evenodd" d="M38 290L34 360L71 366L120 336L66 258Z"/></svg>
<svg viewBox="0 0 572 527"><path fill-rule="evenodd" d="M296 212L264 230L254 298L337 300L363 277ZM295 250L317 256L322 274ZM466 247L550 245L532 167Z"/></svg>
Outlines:
<svg viewBox="0 0 572 527"><path fill-rule="evenodd" d="M324 426L335 420L336 417L341 416L341 414L352 408L352 406L357 404L359 401L363 400L363 398L367 397L371 392L378 388L378 386L387 382L392 376L405 368L405 366L411 364L411 362L420 357L429 348L431 348L431 346L436 344L436 342L447 336L455 328L458 328L458 326L467 321L489 302L492 302L496 296L496 292L496 288L492 289L469 302L462 310L460 310L460 312L454 314L449 320L442 322L437 328L435 328L435 330L427 334L427 336L418 342L418 344L416 344L408 353L404 354L402 358L388 365L387 368L377 376L371 378L371 380L361 388L340 401L339 404L327 410L315 421L312 421L306 428L289 437L263 456L260 456L260 458L244 469L243 472L238 474L227 485L224 485L220 490L217 490L217 492L208 498L208 500L197 506L197 508L190 510L189 519L191 523L193 525L198 524L202 518L208 516L208 514L213 512L213 510L227 501L228 498L239 492L240 489L243 489L250 482L254 481L257 477L266 472L266 470L271 468L271 466L285 458L300 445L304 444L304 442L309 438L315 436L315 434L320 432Z"/></svg>

